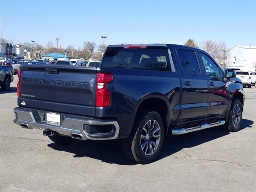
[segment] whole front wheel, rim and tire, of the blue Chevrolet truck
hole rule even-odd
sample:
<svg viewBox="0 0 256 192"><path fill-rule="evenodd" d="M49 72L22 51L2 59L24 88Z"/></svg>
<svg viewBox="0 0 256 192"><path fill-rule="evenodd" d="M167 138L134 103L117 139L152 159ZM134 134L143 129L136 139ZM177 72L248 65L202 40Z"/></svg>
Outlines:
<svg viewBox="0 0 256 192"><path fill-rule="evenodd" d="M227 122L224 124L229 132L236 132L240 128L242 121L242 104L240 100L234 99L230 108Z"/></svg>

